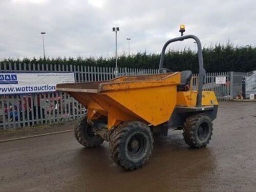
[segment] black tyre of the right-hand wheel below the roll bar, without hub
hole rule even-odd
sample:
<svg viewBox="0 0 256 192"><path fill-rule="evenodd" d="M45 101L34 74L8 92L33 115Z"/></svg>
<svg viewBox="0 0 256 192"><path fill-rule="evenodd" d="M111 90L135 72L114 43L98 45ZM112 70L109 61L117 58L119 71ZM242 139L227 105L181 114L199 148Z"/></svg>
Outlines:
<svg viewBox="0 0 256 192"><path fill-rule="evenodd" d="M199 126L198 123L202 120L207 121L209 123L210 134L206 142L199 143L196 139L197 137L196 126ZM212 130L213 130L212 125L213 124L211 122L211 119L208 116L206 116L204 113L198 113L198 114L189 116L188 118L186 118L185 126L183 128L183 133L182 133L185 143L187 143L187 145L189 145L191 148L200 149L200 148L206 147L206 145L209 143L211 139Z"/></svg>

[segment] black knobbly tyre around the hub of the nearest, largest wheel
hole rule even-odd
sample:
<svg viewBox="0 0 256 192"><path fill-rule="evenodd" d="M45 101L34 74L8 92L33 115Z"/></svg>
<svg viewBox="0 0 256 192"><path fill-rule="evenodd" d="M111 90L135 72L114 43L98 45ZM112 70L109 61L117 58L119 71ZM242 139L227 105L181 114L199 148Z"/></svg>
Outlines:
<svg viewBox="0 0 256 192"><path fill-rule="evenodd" d="M134 130L142 129L144 132L148 133L151 139L151 142L148 143L150 150L148 151L146 158L144 158L140 163L130 162L129 160L126 159L126 157L123 157L121 155L123 150L121 145L124 144L123 139L128 134L130 134L129 132L131 130L129 129L134 129ZM142 122L137 122L137 121L124 122L120 124L117 128L115 128L111 134L111 141L109 143L110 155L114 160L114 162L122 166L124 169L130 170L130 171L137 170L140 167L142 167L148 161L148 158L151 156L152 150L153 150L153 143L154 143L153 134L150 130L150 127L148 127L146 124Z"/></svg>

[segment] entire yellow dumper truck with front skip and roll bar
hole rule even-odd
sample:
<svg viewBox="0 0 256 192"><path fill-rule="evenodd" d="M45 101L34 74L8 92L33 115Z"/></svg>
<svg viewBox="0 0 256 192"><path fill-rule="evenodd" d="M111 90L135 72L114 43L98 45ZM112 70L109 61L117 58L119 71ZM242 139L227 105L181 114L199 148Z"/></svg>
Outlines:
<svg viewBox="0 0 256 192"><path fill-rule="evenodd" d="M189 70L161 73L167 45L189 38L198 46L199 76L193 77ZM159 72L58 84L58 91L68 92L87 107L87 116L75 126L77 141L86 148L109 141L111 157L126 170L143 166L153 150L153 134L167 135L169 127L182 129L190 147L205 147L211 139L218 101L213 91L202 91L205 70L199 38L186 35L168 40L162 49Z"/></svg>

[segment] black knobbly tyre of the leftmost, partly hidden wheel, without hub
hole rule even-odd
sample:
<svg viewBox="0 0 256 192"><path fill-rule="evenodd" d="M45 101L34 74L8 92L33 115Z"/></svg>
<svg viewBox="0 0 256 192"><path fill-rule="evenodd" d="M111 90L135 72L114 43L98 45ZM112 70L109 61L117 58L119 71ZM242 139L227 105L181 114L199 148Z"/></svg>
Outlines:
<svg viewBox="0 0 256 192"><path fill-rule="evenodd" d="M87 129L88 126L90 126L87 123L87 117L81 117L78 119L75 128L74 128L74 135L76 140L83 145L86 148L94 148L101 145L101 143L104 141L99 135L96 135L94 140L89 140L90 138L87 138L87 135L84 134L83 129Z"/></svg>

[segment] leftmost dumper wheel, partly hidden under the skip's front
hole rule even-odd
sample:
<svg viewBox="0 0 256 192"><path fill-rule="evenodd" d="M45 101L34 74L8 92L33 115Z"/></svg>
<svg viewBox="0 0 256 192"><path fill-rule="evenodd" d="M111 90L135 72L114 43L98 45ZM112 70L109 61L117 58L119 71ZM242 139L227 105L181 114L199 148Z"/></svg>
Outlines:
<svg viewBox="0 0 256 192"><path fill-rule="evenodd" d="M87 123L87 117L78 120L75 129L76 140L86 148L98 147L104 139L93 132L93 128Z"/></svg>

